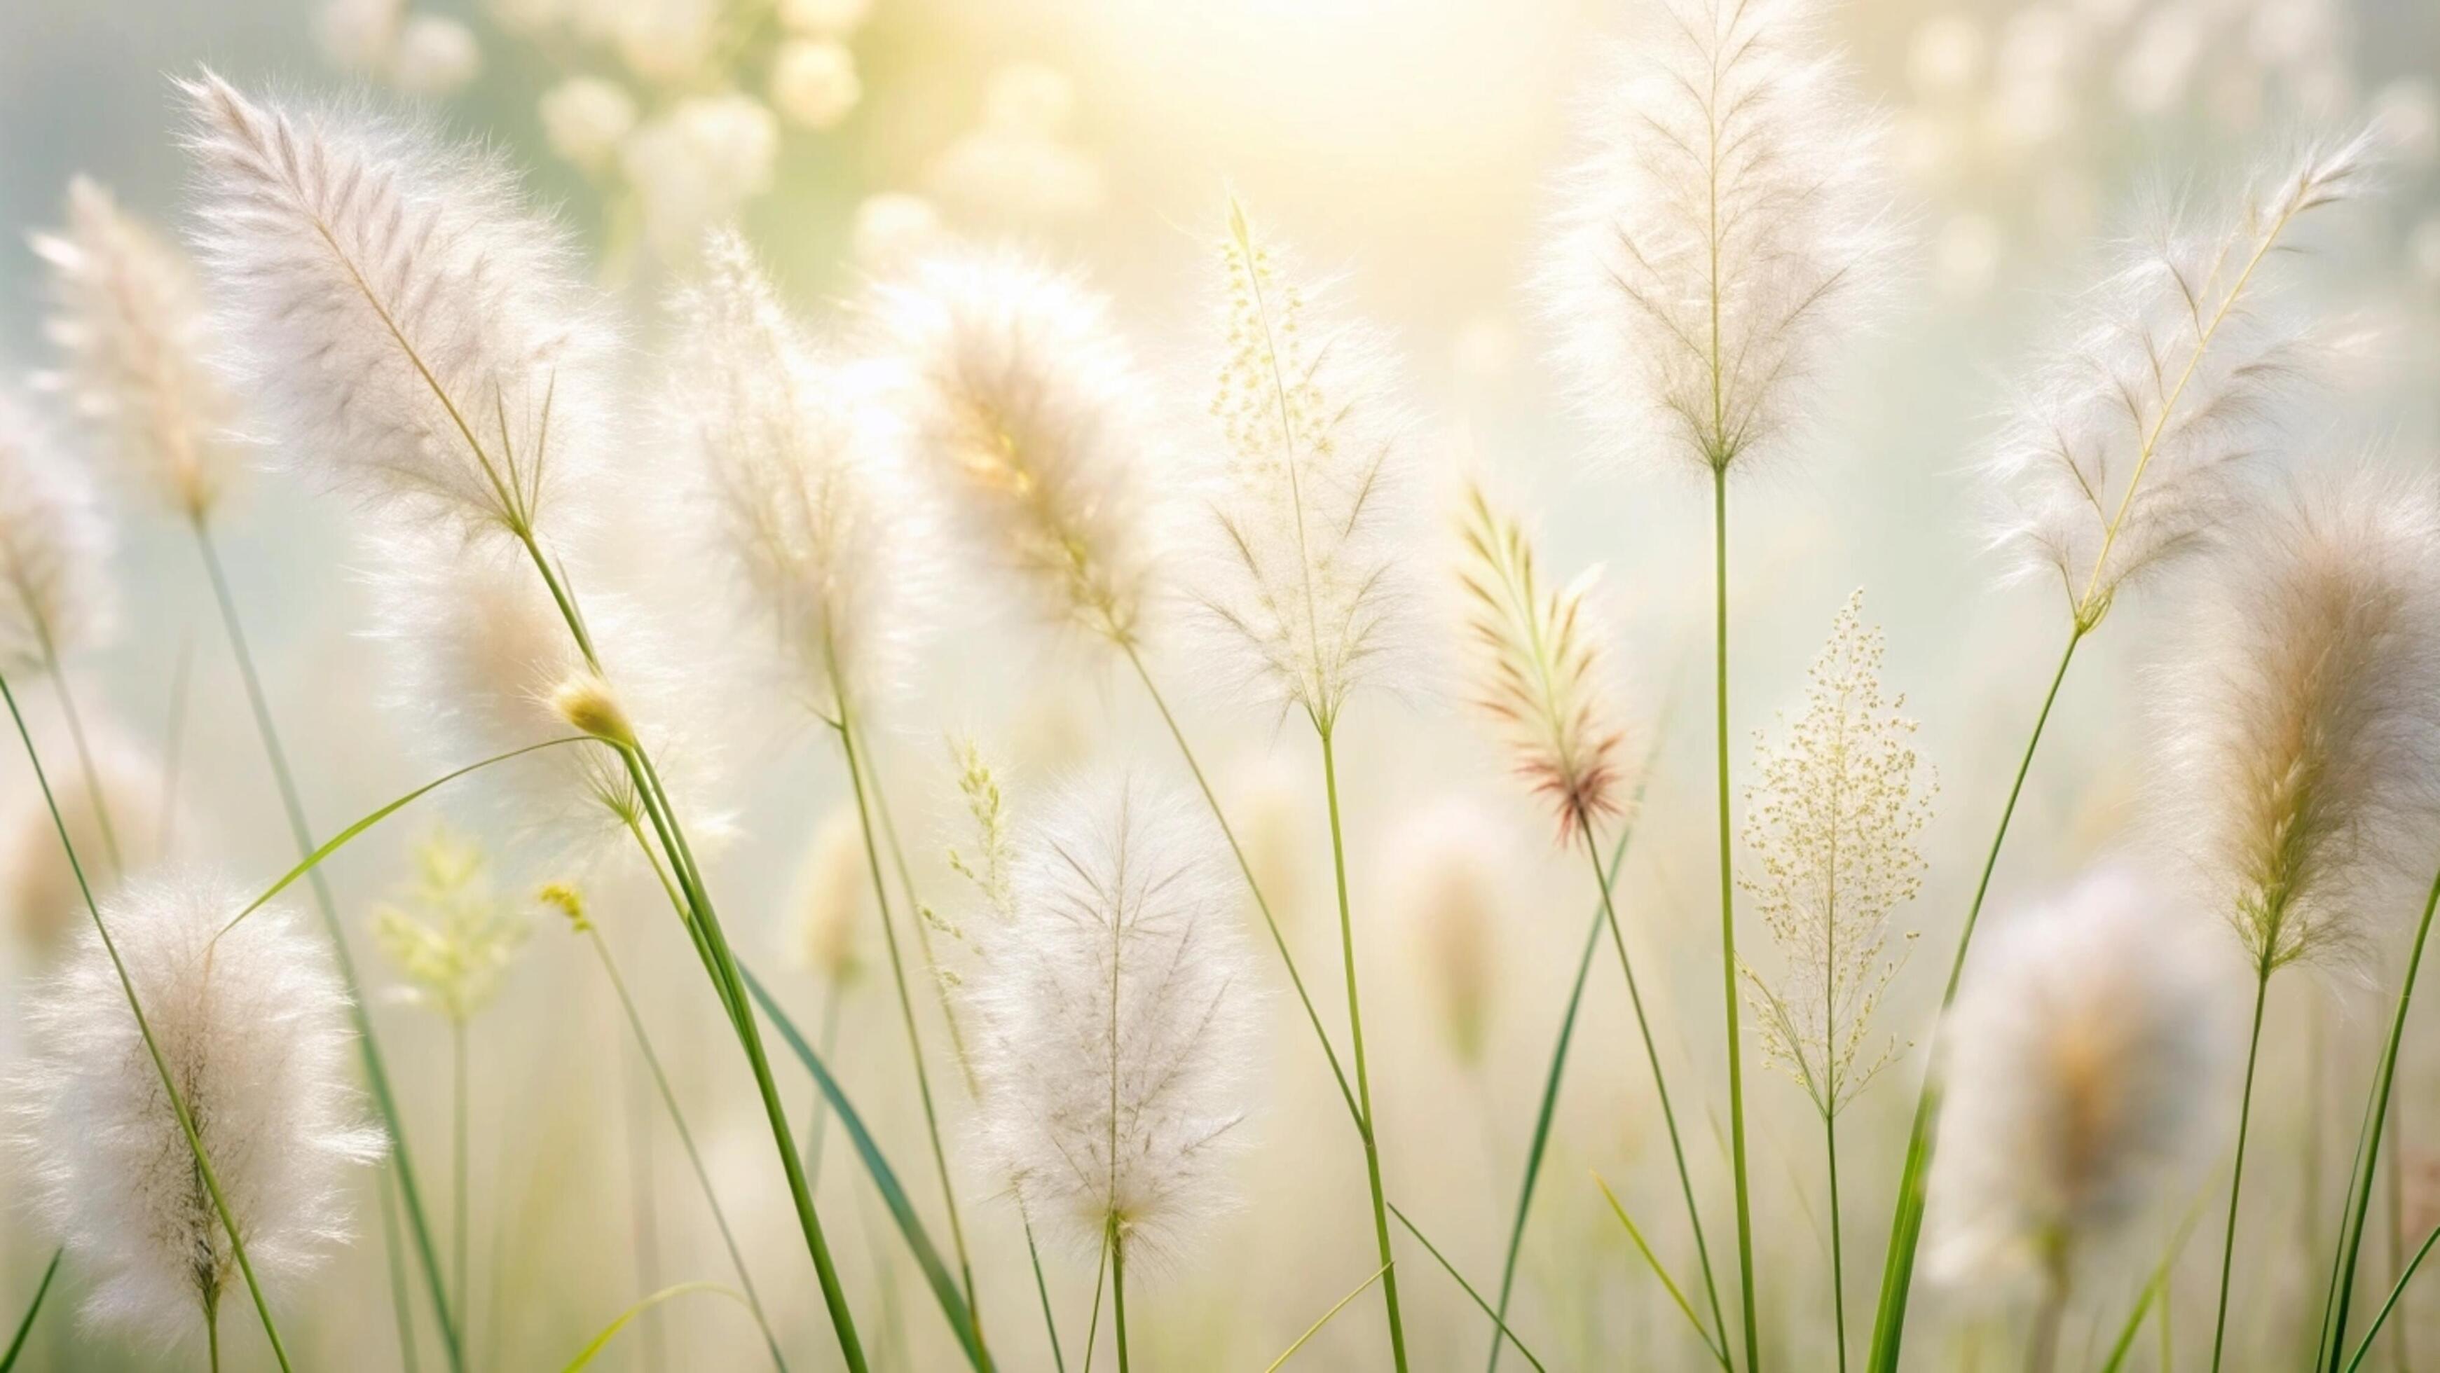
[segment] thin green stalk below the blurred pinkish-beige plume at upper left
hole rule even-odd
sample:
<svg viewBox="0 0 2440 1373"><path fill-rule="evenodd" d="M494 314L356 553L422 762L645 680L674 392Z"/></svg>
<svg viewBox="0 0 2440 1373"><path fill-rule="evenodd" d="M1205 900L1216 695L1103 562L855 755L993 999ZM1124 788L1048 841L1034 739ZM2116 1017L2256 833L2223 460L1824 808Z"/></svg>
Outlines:
<svg viewBox="0 0 2440 1373"><path fill-rule="evenodd" d="M278 724L271 717L271 697L264 695L264 678L254 671L254 654L246 649L246 629L237 617L237 597L229 593L229 576L220 566L220 549L212 529L200 517L188 524L195 532L195 551L203 556L205 578L212 583L212 600L220 605L220 624L229 634L229 654L237 658L237 678L246 688L246 705L254 710L254 732L264 741L264 758L271 763L271 780L281 793L281 810L288 817L288 834L298 846L298 858L315 851L312 827L305 822L305 800L298 795L295 773L288 771L288 751L281 746ZM407 1212L407 1234L415 1239L415 1256L425 1275L425 1295L432 1297L432 1317L442 1329L442 1353L451 1373L466 1371L466 1353L459 1341L456 1314L449 1310L449 1285L442 1280L439 1246L432 1239L432 1222L425 1217L425 1195L415 1180L415 1158L407 1146L405 1122L398 1114L398 1097L390 1093L390 1071L381 1058L381 1041L373 1036L373 1017L366 1010L364 983L356 978L356 958L346 949L346 932L339 927L339 902L329 895L329 880L320 866L307 873L315 910L322 915L322 932L329 934L332 963L346 990L349 1017L356 1029L356 1056L364 1061L364 1083L381 1112L381 1127L390 1146L390 1168L398 1173L398 1200Z"/></svg>

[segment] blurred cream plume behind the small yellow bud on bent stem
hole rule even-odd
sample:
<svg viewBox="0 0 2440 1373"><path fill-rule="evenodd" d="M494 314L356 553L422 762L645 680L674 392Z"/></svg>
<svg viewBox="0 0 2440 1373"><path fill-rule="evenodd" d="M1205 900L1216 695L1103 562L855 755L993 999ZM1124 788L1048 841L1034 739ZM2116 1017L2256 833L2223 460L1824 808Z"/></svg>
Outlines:
<svg viewBox="0 0 2440 1373"><path fill-rule="evenodd" d="M705 746L691 729L678 663L659 627L620 595L586 588L586 629L615 693L590 671L525 549L461 544L415 527L376 529L368 580L373 637L390 649L386 705L437 766L459 768L571 734L632 732L671 788L688 832L720 817L703 795ZM510 827L581 851L632 841L642 797L608 744L559 744L468 778Z"/></svg>

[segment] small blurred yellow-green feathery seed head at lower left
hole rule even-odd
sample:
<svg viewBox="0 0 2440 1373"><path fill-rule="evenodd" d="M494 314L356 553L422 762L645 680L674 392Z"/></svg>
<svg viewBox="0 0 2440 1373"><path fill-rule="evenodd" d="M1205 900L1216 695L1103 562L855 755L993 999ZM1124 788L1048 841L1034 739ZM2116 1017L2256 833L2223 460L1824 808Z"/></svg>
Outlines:
<svg viewBox="0 0 2440 1373"><path fill-rule="evenodd" d="M415 885L373 907L373 944L405 983L398 1000L466 1024L490 1005L532 922L490 885L490 858L434 829L415 846Z"/></svg>

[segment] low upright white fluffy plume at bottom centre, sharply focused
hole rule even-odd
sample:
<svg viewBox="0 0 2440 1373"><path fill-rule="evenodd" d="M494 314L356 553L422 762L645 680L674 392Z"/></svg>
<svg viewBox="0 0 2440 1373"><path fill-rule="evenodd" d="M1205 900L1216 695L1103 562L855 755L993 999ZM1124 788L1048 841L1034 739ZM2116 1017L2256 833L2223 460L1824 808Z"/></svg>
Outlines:
<svg viewBox="0 0 2440 1373"><path fill-rule="evenodd" d="M966 983L978 1132L1035 1224L1176 1258L1227 1207L1257 993L1203 817L1127 778L1039 810L1015 924Z"/></svg>

